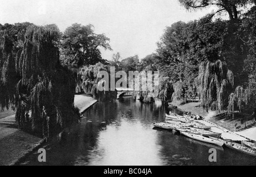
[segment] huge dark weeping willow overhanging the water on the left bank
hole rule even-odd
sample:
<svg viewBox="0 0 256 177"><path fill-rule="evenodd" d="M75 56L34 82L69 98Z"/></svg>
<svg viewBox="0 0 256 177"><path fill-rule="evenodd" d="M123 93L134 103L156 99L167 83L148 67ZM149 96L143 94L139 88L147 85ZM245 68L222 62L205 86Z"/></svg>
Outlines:
<svg viewBox="0 0 256 177"><path fill-rule="evenodd" d="M4 85L15 88L10 91L14 99L1 99L1 105L15 100L19 128L30 128L45 138L79 119L73 104L75 78L60 65L59 39L55 25L29 26L23 47L15 57L10 52L1 76Z"/></svg>

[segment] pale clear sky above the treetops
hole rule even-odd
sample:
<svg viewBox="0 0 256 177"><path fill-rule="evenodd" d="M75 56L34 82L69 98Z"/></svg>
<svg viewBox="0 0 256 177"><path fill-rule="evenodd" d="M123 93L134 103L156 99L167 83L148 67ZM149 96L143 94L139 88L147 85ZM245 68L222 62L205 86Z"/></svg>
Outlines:
<svg viewBox="0 0 256 177"><path fill-rule="evenodd" d="M0 23L57 24L60 31L73 23L93 24L94 32L110 38L112 51L101 49L112 60L146 57L172 23L199 19L212 8L187 11L178 0L1 0Z"/></svg>

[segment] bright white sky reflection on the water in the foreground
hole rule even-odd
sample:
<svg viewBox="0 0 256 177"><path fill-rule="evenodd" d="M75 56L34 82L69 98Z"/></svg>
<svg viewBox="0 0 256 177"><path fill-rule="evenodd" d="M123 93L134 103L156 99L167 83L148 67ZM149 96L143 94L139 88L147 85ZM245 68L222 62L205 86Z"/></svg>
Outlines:
<svg viewBox="0 0 256 177"><path fill-rule="evenodd" d="M135 120L123 120L119 127L108 126L100 132L98 145L89 154L88 165L159 165L162 162L158 159L155 140L156 134L151 128L144 128Z"/></svg>

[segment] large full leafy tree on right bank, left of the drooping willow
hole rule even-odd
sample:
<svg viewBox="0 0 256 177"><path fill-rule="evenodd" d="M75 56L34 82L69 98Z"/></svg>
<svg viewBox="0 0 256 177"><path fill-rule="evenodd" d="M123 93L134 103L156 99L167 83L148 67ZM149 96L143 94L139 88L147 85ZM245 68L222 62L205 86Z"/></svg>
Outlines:
<svg viewBox="0 0 256 177"><path fill-rule="evenodd" d="M173 100L185 103L197 96L194 79L199 73L199 65L222 57L225 29L226 22L212 22L208 16L189 23L177 22L166 28L158 43L157 68L179 88Z"/></svg>

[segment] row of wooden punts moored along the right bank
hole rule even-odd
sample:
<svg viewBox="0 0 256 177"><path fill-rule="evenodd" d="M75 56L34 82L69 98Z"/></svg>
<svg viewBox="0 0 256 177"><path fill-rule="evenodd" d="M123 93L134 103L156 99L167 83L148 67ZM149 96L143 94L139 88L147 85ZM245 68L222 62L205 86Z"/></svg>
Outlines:
<svg viewBox="0 0 256 177"><path fill-rule="evenodd" d="M221 133L212 132L211 128L203 123L199 123L189 115L176 115L175 113L166 113L166 120L160 123L154 123L154 127L175 130L186 137L197 141L206 142L217 146L229 147L245 154L256 156L256 143L250 141L234 142L232 140L224 140Z"/></svg>

